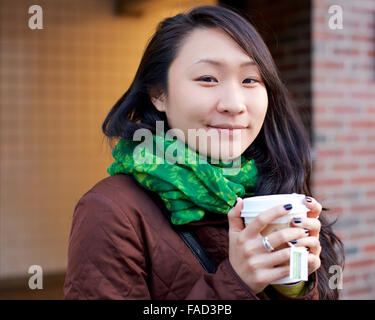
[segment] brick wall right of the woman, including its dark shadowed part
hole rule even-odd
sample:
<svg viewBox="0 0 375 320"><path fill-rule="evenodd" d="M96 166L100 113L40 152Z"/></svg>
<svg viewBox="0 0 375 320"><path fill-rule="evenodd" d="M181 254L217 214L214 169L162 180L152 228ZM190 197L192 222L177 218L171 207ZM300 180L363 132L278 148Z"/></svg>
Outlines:
<svg viewBox="0 0 375 320"><path fill-rule="evenodd" d="M331 5L343 29L330 29ZM338 222L341 299L375 298L375 2L247 1L311 133L312 190Z"/></svg>

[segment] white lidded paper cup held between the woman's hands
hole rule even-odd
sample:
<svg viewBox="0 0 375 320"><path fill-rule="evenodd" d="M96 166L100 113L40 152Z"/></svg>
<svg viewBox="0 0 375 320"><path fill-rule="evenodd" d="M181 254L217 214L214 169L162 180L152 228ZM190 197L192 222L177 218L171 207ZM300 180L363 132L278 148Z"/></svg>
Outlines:
<svg viewBox="0 0 375 320"><path fill-rule="evenodd" d="M305 218L309 209L303 204L303 199L305 195L303 194L275 194L267 196L256 196L243 199L243 208L241 211L241 217L244 218L245 225L251 223L261 212L271 209L277 205L283 205L290 203L293 207L285 216L272 221L265 229L262 230L261 235L267 236L272 232L289 228L291 220L293 218ZM288 245L275 248L275 250L280 250L282 248L287 248ZM307 268L306 261L302 261L304 268ZM303 274L307 273L307 270L302 270ZM297 279L295 277L282 278L273 282L272 284L287 284L300 281L302 279Z"/></svg>

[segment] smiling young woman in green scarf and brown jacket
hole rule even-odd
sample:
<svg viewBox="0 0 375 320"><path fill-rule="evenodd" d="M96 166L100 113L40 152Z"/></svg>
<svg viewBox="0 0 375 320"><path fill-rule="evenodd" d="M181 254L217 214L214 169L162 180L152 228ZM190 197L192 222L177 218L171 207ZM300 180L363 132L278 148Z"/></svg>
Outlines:
<svg viewBox="0 0 375 320"><path fill-rule="evenodd" d="M75 208L65 299L338 298L328 270L343 264L342 244L311 197L307 135L238 13L200 6L162 21L102 128L115 161ZM145 132L152 147L137 153ZM178 142L178 161L160 161ZM290 205L244 226L242 198L293 192L307 195L307 218L268 243L260 232ZM308 281L272 285L289 273L290 241L309 249Z"/></svg>

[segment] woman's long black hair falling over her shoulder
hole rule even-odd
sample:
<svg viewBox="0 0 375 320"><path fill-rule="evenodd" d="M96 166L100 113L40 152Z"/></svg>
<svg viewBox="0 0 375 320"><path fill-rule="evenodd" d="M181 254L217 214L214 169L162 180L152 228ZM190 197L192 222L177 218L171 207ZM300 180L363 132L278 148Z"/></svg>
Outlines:
<svg viewBox="0 0 375 320"><path fill-rule="evenodd" d="M184 39L197 28L221 28L248 53L258 66L268 94L266 117L256 139L244 152L258 169L255 195L303 193L310 195L311 150L305 130L291 96L280 79L278 69L261 36L248 18L234 9L199 6L188 13L161 21L151 37L129 89L105 118L102 130L110 145L114 139L132 139L135 130L155 132L156 121L164 121L151 102L150 92L168 95L168 70ZM325 208L324 208L325 209ZM322 213L318 269L320 299L338 299L337 289L329 288L329 268L343 267L343 244Z"/></svg>

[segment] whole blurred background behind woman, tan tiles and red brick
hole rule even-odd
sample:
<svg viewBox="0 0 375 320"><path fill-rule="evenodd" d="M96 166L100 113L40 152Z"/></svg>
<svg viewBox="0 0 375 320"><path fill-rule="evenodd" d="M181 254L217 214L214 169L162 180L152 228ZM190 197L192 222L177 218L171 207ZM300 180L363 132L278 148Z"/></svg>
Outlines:
<svg viewBox="0 0 375 320"><path fill-rule="evenodd" d="M342 298L375 298L374 1L0 0L0 299L61 298L74 206L112 162L101 123L156 24L201 4L243 10L264 37L311 137L314 196L338 217Z"/></svg>

